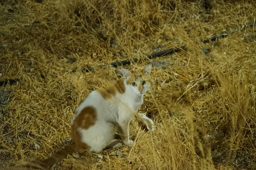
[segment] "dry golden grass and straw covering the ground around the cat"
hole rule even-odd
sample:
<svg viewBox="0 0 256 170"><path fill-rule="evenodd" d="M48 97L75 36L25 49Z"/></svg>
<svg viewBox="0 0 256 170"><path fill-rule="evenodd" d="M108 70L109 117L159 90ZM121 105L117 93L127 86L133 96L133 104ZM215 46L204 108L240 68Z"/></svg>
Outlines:
<svg viewBox="0 0 256 170"><path fill-rule="evenodd" d="M125 68L170 62L153 67L154 87L140 109L156 129L134 119L131 149L80 152L55 169L256 169L256 42L246 37L255 28L196 42L254 22L256 2L209 2L206 10L185 0L0 0L0 81L20 78L0 87L8 99L0 105L0 169L69 143L81 99L118 77L111 62L133 57L139 62ZM183 44L186 51L145 58Z"/></svg>

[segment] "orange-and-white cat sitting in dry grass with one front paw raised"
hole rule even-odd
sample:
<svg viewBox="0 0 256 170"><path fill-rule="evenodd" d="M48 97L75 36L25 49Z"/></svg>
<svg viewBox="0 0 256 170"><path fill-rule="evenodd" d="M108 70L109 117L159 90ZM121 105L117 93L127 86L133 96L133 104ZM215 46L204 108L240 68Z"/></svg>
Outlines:
<svg viewBox="0 0 256 170"><path fill-rule="evenodd" d="M111 87L100 88L90 92L76 108L71 120L72 143L49 156L49 158L34 163L14 167L47 169L57 163L67 154L82 150L99 152L122 144L132 146L134 141L129 138L129 123L136 114L149 130L154 130L151 119L143 113L138 113L143 103L143 96L149 91L152 65L143 69L127 70L121 68L122 78L116 80ZM115 139L119 134L122 140Z"/></svg>

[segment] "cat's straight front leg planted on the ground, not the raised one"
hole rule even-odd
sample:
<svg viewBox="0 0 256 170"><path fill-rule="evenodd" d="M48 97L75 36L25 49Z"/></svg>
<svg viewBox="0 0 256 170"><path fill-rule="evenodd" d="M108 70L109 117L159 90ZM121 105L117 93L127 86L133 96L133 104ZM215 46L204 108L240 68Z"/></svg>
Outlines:
<svg viewBox="0 0 256 170"><path fill-rule="evenodd" d="M131 147L134 141L129 139L129 122L116 122L116 130L122 142Z"/></svg>

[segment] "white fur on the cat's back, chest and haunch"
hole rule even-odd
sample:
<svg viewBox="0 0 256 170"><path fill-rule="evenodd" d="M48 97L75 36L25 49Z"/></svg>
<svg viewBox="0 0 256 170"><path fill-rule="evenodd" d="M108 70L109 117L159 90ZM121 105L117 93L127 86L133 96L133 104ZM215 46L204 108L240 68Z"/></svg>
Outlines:
<svg viewBox="0 0 256 170"><path fill-rule="evenodd" d="M115 122L125 124L131 121L134 113L143 103L143 96L147 91L147 85L144 86L142 93L137 86L127 85L129 78L126 69L122 69L125 77L125 93L116 95L111 99L104 99L97 91L92 91L86 99L79 105L76 114L73 116L71 124L81 110L87 106L93 106L96 109L96 122L87 130L79 129L82 142L90 146L89 151L98 152L110 144L115 135ZM132 144L131 140L123 141L124 144Z"/></svg>

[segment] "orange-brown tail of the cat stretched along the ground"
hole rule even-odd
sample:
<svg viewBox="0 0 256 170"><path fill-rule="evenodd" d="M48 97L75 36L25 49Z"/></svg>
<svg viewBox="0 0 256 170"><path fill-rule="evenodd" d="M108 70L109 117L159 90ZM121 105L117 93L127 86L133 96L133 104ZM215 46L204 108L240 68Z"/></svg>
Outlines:
<svg viewBox="0 0 256 170"><path fill-rule="evenodd" d="M65 146L63 149L58 150L49 158L44 159L42 161L29 162L28 164L15 166L12 170L32 170L42 168L43 170L47 170L53 164L56 164L58 161L61 161L65 158L67 154L75 153L81 151L79 147L77 147L74 143Z"/></svg>

